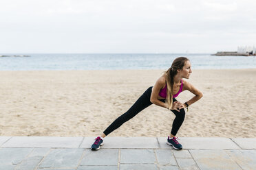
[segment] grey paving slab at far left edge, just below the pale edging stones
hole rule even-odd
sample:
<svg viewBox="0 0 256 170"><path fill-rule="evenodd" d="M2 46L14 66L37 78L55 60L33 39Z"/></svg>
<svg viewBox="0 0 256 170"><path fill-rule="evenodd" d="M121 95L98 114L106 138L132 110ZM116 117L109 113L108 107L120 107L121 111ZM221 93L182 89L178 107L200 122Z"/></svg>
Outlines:
<svg viewBox="0 0 256 170"><path fill-rule="evenodd" d="M21 163L32 150L32 148L1 148L0 167L8 167L8 165L16 166L17 164Z"/></svg>

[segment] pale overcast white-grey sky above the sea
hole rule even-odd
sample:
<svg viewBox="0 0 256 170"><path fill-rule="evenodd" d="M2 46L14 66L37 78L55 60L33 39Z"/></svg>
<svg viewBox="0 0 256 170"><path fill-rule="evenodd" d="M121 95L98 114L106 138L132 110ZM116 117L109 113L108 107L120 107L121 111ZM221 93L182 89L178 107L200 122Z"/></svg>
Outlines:
<svg viewBox="0 0 256 170"><path fill-rule="evenodd" d="M255 0L0 0L0 8L0 55L256 47Z"/></svg>

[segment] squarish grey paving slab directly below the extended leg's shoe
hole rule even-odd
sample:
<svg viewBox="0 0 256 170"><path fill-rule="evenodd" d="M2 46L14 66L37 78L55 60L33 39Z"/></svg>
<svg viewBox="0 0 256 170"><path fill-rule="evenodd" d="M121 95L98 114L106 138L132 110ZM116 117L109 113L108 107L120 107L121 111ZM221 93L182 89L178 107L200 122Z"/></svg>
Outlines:
<svg viewBox="0 0 256 170"><path fill-rule="evenodd" d="M80 165L118 165L118 149L85 149Z"/></svg>

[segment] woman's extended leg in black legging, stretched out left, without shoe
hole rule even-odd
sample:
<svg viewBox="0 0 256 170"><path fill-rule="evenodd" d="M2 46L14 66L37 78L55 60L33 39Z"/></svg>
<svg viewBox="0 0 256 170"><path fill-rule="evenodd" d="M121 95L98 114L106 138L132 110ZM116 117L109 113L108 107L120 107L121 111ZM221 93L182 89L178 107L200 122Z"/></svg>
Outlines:
<svg viewBox="0 0 256 170"><path fill-rule="evenodd" d="M127 110L127 112L122 114L113 123L111 123L111 125L109 125L109 127L107 127L107 129L103 132L103 136L104 136L104 134L105 134L105 136L107 136L108 134L110 134L111 132L116 130L118 127L120 127L123 123L125 123L126 121L129 121L129 119L135 117L136 114L138 114L140 111L142 111L143 109L150 106L152 104L150 101L151 91L152 91L152 87L149 87L145 91L145 93L143 93L140 96L140 98L138 98L138 100L134 103L134 105L131 106L131 108L129 108L129 110Z"/></svg>

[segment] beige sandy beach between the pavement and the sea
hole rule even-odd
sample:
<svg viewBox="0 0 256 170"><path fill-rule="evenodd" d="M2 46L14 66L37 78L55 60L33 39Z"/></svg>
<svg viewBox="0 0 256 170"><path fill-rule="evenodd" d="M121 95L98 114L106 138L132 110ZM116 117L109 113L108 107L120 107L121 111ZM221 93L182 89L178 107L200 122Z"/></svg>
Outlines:
<svg viewBox="0 0 256 170"><path fill-rule="evenodd" d="M0 71L0 135L97 136L162 71ZM192 71L187 81L204 97L189 106L177 136L256 137L256 69ZM109 136L167 136L174 117L151 105Z"/></svg>

